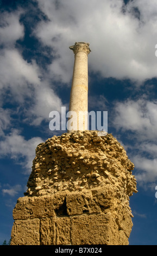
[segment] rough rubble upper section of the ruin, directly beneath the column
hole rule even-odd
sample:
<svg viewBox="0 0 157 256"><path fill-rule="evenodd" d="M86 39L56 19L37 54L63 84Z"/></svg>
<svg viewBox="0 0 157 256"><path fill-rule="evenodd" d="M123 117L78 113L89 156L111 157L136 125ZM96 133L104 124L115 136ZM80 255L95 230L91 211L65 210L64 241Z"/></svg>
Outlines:
<svg viewBox="0 0 157 256"><path fill-rule="evenodd" d="M97 131L64 133L36 148L26 195L116 184L120 197L131 196L136 192L133 169L124 148L111 134L99 137Z"/></svg>

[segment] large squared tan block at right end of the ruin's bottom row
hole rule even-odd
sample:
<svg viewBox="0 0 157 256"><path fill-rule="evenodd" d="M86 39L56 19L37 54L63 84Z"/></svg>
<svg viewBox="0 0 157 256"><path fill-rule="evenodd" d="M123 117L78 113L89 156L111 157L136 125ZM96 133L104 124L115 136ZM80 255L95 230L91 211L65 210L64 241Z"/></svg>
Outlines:
<svg viewBox="0 0 157 256"><path fill-rule="evenodd" d="M72 217L72 245L116 245L118 228L109 214Z"/></svg>

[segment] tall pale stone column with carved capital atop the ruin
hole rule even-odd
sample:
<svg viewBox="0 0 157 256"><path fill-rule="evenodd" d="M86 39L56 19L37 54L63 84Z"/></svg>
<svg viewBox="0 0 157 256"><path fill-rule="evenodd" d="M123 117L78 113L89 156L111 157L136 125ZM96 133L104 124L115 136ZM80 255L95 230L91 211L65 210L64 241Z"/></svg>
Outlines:
<svg viewBox="0 0 157 256"><path fill-rule="evenodd" d="M76 42L73 46L70 46L70 49L74 52L74 68L69 111L74 111L75 113L73 113L71 117L73 123L70 122L70 119L68 121L67 130L68 132L74 130L84 131L87 130L88 110L87 56L91 50L89 43L85 42ZM73 129L71 129L70 123Z"/></svg>

